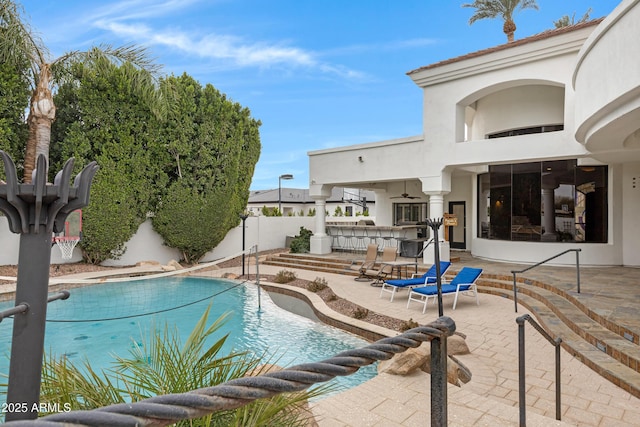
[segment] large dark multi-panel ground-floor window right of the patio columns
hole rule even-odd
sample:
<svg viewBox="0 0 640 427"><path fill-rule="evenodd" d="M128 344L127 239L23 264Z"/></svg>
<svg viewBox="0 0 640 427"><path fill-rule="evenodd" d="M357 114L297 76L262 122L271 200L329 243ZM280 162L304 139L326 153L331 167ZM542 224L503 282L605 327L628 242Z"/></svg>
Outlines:
<svg viewBox="0 0 640 427"><path fill-rule="evenodd" d="M607 242L607 167L576 160L489 166L478 176L478 237Z"/></svg>

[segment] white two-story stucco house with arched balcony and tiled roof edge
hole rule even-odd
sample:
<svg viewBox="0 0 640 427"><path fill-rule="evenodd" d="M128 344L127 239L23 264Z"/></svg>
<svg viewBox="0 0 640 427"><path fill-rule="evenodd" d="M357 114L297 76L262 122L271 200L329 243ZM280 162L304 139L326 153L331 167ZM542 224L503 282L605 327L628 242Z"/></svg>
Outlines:
<svg viewBox="0 0 640 427"><path fill-rule="evenodd" d="M310 152L310 196L372 190L376 225L453 214L445 256L640 265L639 3L408 72L422 135ZM314 253L331 252L324 223Z"/></svg>

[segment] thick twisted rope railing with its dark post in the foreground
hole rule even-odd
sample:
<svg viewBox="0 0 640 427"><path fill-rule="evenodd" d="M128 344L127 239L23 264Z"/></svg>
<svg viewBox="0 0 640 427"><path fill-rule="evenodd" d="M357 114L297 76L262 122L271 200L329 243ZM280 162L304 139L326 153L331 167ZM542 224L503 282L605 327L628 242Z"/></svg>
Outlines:
<svg viewBox="0 0 640 427"><path fill-rule="evenodd" d="M278 372L255 377L244 377L214 387L187 393L155 396L133 403L121 403L86 411L61 412L35 420L9 421L7 426L55 427L82 426L166 426L180 420L204 417L215 412L239 408L257 399L280 393L302 391L315 383L326 382L337 376L351 375L363 366L391 359L409 348L432 342L432 354L446 351L446 338L453 335L456 326L449 317L378 340L359 349L347 350L334 357L315 363L292 366ZM431 408L432 427L447 425L446 357L432 357ZM444 384L442 381L444 378ZM444 389L434 392L434 383ZM426 384L425 384L426 386ZM436 405L437 407L434 407Z"/></svg>

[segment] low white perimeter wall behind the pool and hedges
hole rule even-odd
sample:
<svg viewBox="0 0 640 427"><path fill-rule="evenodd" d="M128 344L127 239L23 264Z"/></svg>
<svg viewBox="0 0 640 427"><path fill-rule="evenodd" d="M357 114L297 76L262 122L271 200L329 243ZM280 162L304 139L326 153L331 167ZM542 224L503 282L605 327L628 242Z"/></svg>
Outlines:
<svg viewBox="0 0 640 427"><path fill-rule="evenodd" d="M249 217L246 220L245 247L249 249L257 244L260 251L284 248L286 236L299 234L300 227L315 232L314 217ZM20 235L9 231L5 217L0 217L0 242L0 265L17 265ZM160 235L153 230L151 221L146 221L140 226L138 232L127 242L126 247L127 249L120 259L106 261L103 265L130 266L140 261L158 261L166 264L172 259L180 259L179 251L164 246ZM242 223L230 230L224 240L214 250L208 252L202 261L225 258L241 251ZM63 260L60 250L56 246L51 248L52 264L81 260L82 254L77 247L71 260Z"/></svg>

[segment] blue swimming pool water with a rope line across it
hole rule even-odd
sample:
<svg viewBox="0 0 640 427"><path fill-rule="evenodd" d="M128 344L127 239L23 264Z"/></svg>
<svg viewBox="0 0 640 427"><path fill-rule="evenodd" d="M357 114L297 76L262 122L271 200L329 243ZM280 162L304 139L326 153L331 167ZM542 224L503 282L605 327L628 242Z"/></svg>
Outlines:
<svg viewBox="0 0 640 427"><path fill-rule="evenodd" d="M201 300L191 305L194 301ZM74 363L85 358L92 368L107 368L113 354L127 357L132 346L149 337L150 328L175 325L186 339L204 310L211 305L209 324L230 313L217 340L229 333L226 349L264 352L280 366L317 362L335 354L367 345L367 342L339 329L316 323L277 307L255 284L197 278L168 277L116 282L71 290L71 297L54 301L47 309L45 349L65 355ZM189 305L187 305L189 304ZM0 303L0 309L13 303ZM170 308L185 305L170 311ZM142 313L156 313L128 317ZM118 320L105 320L120 318ZM76 320L68 322L67 320ZM83 320L83 322L77 322ZM0 323L0 373L8 375L12 319ZM339 389L353 387L376 375L375 366L334 380ZM6 378L0 378L6 382ZM2 399L4 400L4 399Z"/></svg>

